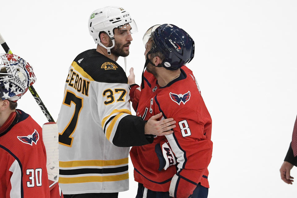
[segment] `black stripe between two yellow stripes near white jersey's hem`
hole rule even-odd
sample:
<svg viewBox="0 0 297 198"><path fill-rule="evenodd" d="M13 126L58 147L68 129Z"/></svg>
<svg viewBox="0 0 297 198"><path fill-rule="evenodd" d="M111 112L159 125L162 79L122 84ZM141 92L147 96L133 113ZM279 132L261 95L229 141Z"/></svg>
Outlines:
<svg viewBox="0 0 297 198"><path fill-rule="evenodd" d="M109 174L109 173L121 173L128 170L127 166L121 166L117 168L80 168L64 170L60 169L60 175L76 175L76 174Z"/></svg>

